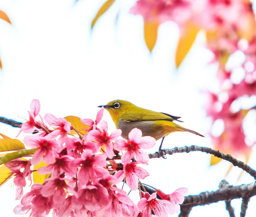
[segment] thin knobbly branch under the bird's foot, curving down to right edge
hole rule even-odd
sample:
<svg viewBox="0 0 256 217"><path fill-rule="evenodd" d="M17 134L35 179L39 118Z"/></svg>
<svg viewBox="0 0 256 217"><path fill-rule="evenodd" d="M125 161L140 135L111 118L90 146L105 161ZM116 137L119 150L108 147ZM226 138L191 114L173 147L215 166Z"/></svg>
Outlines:
<svg viewBox="0 0 256 217"><path fill-rule="evenodd" d="M248 166L246 163L237 160L236 158L232 157L230 154L224 154L220 151L214 150L208 147L200 147L200 146L185 146L185 147L175 147L172 149L162 149L161 151L157 151L154 154L148 154L149 158L160 158L165 156L166 154L172 155L175 153L189 153L190 151L202 151L208 154L213 154L215 157L219 157L221 159L227 160L232 163L234 166L241 168L242 170L249 173L255 180L256 180L256 171Z"/></svg>

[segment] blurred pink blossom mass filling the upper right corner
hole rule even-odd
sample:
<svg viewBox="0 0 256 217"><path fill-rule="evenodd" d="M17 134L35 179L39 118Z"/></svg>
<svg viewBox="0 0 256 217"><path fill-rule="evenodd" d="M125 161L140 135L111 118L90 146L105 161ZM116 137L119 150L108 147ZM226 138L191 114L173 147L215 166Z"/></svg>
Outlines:
<svg viewBox="0 0 256 217"><path fill-rule="evenodd" d="M137 0L130 11L140 14L147 22L174 21L181 30L193 23L204 29L207 48L214 54L212 62L219 63L217 94L209 93L207 115L213 122L224 121L224 132L212 137L215 148L231 154L244 154L247 159L251 147L245 143L242 121L246 111L234 112L232 104L242 96L256 95L256 21L251 1L244 0ZM186 34L186 31L181 31ZM186 46L186 45L184 45ZM227 68L229 57L236 51L245 56L241 66ZM235 60L236 61L236 60ZM244 74L239 83L232 81L239 69ZM226 94L223 100L221 95ZM253 143L253 142L252 142Z"/></svg>

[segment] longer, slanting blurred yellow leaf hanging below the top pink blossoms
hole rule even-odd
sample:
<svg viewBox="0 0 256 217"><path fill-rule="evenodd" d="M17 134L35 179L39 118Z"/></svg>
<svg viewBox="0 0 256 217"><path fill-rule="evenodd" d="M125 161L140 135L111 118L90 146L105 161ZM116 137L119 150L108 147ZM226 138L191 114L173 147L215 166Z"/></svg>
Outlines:
<svg viewBox="0 0 256 217"><path fill-rule="evenodd" d="M193 23L187 23L186 27L184 27L184 31L180 36L180 40L176 50L176 66L179 67L180 63L186 57L186 54L189 52L190 48L192 47L195 38L200 30L198 26Z"/></svg>

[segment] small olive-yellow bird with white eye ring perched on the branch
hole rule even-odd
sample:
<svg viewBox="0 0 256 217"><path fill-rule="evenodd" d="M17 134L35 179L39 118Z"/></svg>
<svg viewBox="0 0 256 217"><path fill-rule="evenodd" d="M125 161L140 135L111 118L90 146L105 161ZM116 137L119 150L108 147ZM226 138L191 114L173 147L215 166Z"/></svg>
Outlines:
<svg viewBox="0 0 256 217"><path fill-rule="evenodd" d="M133 128L140 129L143 136L151 136L156 140L162 138L159 151L162 148L164 138L172 132L186 131L204 137L196 131L174 123L174 121L183 122L179 120L181 117L143 109L125 100L113 100L103 107L111 115L116 128L122 130L121 136L126 140Z"/></svg>

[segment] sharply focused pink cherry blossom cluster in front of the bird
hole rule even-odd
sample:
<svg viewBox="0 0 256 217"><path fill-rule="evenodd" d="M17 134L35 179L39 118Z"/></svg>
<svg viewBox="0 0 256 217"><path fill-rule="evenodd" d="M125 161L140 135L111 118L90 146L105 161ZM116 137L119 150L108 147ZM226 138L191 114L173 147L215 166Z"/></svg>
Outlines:
<svg viewBox="0 0 256 217"><path fill-rule="evenodd" d="M38 100L31 103L29 120L21 126L21 131L35 133L24 138L26 146L37 148L30 160L16 159L5 165L15 174L17 186L15 214L31 217L46 217L50 211L54 217L151 217L166 216L180 211L186 188L179 188L172 194L141 192L141 200L136 205L119 183L126 182L131 190L139 188L140 179L149 176L138 164L148 163L148 154L143 149L154 147L155 139L142 137L142 132L134 128L129 140L117 138L121 130L108 135L108 125L101 122L102 107L96 121L82 119L90 126L87 134L71 134L73 126L64 118L46 114L44 119L36 120L39 115ZM46 123L44 123L44 120ZM98 127L99 126L99 127ZM74 129L75 130L75 129ZM121 162L113 160L124 151ZM24 194L26 177L32 182L31 166L41 161L47 166L39 167L38 174L50 174L43 184L34 183L31 191ZM122 186L122 185L121 185ZM162 198L159 200L156 195Z"/></svg>

